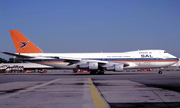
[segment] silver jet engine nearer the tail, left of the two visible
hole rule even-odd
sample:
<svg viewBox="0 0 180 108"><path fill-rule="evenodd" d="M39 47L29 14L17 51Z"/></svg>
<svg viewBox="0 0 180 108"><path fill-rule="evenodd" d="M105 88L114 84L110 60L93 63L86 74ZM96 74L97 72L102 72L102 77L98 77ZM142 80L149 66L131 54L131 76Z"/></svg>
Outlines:
<svg viewBox="0 0 180 108"><path fill-rule="evenodd" d="M80 69L89 69L89 70L98 70L98 63L97 62L89 62L87 64L79 65Z"/></svg>

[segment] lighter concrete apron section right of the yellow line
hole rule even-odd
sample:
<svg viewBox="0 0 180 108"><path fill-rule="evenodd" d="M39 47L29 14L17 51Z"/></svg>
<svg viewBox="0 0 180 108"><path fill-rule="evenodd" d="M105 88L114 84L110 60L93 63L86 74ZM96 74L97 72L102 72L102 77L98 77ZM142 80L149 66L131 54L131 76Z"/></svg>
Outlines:
<svg viewBox="0 0 180 108"><path fill-rule="evenodd" d="M94 84L111 107L180 107L180 93L175 91L129 80L95 80Z"/></svg>

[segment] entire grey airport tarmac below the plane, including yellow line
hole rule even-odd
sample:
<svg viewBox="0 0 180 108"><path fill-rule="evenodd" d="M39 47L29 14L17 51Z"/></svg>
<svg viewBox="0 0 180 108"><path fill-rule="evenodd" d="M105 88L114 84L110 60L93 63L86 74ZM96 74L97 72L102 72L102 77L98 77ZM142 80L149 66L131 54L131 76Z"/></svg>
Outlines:
<svg viewBox="0 0 180 108"><path fill-rule="evenodd" d="M180 72L0 74L1 108L180 108Z"/></svg>

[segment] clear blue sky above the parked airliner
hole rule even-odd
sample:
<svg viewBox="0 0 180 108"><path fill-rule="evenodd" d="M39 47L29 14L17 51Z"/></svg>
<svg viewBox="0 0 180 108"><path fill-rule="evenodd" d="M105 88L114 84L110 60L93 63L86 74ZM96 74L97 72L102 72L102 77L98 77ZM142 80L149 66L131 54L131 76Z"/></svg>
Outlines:
<svg viewBox="0 0 180 108"><path fill-rule="evenodd" d="M180 57L180 0L0 0L0 51L16 52L9 30L44 52L164 49Z"/></svg>

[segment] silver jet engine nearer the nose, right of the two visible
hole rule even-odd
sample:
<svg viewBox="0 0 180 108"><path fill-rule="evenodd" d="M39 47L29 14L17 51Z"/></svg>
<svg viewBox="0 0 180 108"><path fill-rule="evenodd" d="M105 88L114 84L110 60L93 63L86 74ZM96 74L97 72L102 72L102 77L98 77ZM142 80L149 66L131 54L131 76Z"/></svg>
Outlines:
<svg viewBox="0 0 180 108"><path fill-rule="evenodd" d="M122 72L124 64L116 64L114 66L107 67L107 71Z"/></svg>

